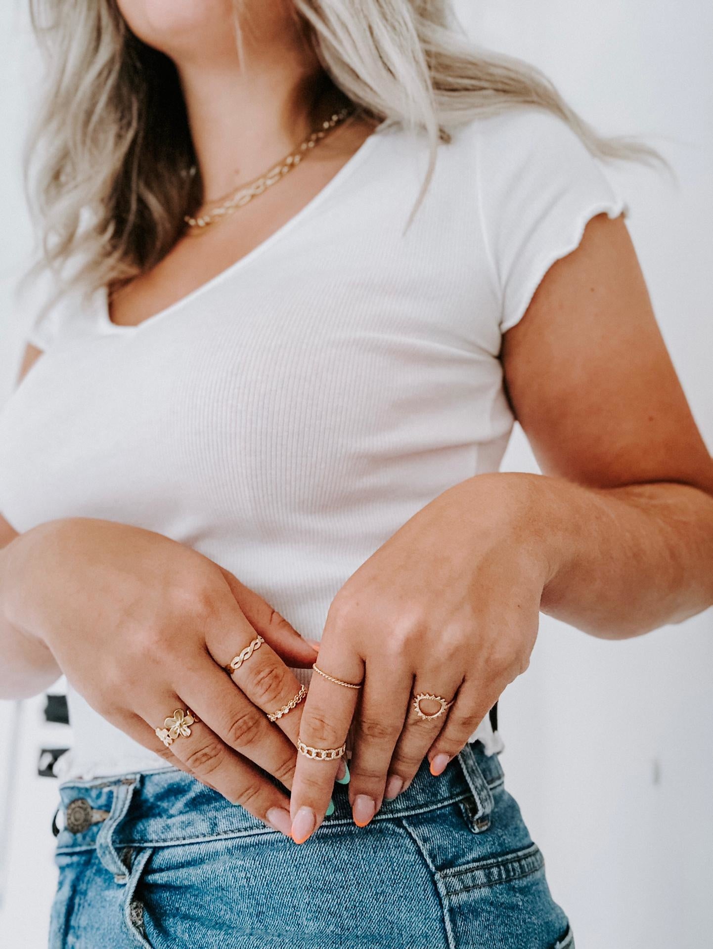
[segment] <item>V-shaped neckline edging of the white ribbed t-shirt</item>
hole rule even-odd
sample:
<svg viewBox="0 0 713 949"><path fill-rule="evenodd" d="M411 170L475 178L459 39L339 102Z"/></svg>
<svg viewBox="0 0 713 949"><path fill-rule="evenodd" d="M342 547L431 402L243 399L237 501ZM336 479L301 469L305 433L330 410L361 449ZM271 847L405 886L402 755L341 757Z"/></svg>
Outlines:
<svg viewBox="0 0 713 949"><path fill-rule="evenodd" d="M137 323L136 325L113 323L109 315L108 287L103 286L100 288L100 290L97 291L97 308L100 328L102 331L105 333L117 334L137 333L144 326L157 323L164 317L175 313L181 307L184 307L187 304L192 303L194 300L197 300L199 296L201 296L203 293L206 293L209 289L215 288L228 277L235 275L235 273L237 273L239 270L243 270L245 267L248 267L257 257L260 256L260 254L264 253L265 251L269 251L273 244L277 243L298 224L301 224L305 218L312 214L316 208L321 205L323 201L325 201L349 175L356 171L357 167L361 165L363 161L365 161L366 157L373 150L380 133L388 121L388 119L381 121L369 133L369 135L362 142L359 148L357 148L354 154L351 155L350 158L347 158L347 161L342 165L337 173L329 178L327 184L321 188L316 195L313 195L307 204L303 205L299 211L296 212L296 214L292 214L289 220L285 221L285 223L281 224L276 229L276 231L273 231L264 240L260 241L259 244L255 245L252 251L248 251L246 254L236 260L235 263L230 264L228 267L224 268L224 270L220 270L219 273L216 273L215 277L209 278L204 283L200 284L199 287L190 290L184 296L180 297L179 300L169 304L167 307L159 309L151 316L147 316L144 320L141 320L141 323Z"/></svg>

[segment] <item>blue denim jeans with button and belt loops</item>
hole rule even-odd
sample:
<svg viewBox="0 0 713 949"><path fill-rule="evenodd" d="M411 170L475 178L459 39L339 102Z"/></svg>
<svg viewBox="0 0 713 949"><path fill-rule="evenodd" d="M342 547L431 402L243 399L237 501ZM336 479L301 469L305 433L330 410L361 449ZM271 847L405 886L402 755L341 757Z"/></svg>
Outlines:
<svg viewBox="0 0 713 949"><path fill-rule="evenodd" d="M347 789L298 846L175 769L62 786L50 949L572 949L479 741L366 828Z"/></svg>

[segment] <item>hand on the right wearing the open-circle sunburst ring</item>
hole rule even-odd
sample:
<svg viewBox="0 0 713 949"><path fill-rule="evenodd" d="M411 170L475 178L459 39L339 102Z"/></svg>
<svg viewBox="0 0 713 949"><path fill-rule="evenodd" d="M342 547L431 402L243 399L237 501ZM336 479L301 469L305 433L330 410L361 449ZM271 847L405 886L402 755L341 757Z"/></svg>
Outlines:
<svg viewBox="0 0 713 949"><path fill-rule="evenodd" d="M534 478L480 474L441 493L353 573L329 607L300 738L338 748L354 719L349 801L365 826L427 755L440 774L535 646L551 575ZM437 718L419 693L453 704ZM421 702L426 714L441 703ZM307 840L328 807L338 760L297 754L292 836Z"/></svg>

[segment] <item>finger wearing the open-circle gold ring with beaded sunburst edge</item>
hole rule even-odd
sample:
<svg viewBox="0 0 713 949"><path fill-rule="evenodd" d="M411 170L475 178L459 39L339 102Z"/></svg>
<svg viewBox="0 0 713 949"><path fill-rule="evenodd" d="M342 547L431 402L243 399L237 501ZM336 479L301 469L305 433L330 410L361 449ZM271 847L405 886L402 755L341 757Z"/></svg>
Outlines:
<svg viewBox="0 0 713 949"><path fill-rule="evenodd" d="M411 693L403 731L399 736L389 765L389 777L386 782L387 797L396 797L401 791L405 791L411 783L422 765L423 758L426 754L429 754L434 742L446 727L456 702L460 700L460 691L458 690L462 680L461 674L458 675L458 678L447 677L442 669L419 671ZM439 698L421 698L418 701L418 708L421 712L419 714L416 710L419 696L437 696ZM453 702L452 705L449 704L451 702ZM422 716L433 717L423 718ZM432 773L441 772L432 771Z"/></svg>

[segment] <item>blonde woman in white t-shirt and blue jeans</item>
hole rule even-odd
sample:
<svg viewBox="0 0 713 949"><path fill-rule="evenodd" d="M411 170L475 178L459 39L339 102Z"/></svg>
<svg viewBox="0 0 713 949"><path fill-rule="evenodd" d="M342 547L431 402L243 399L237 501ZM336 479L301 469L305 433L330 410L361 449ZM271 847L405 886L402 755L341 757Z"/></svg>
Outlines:
<svg viewBox="0 0 713 949"><path fill-rule="evenodd" d="M0 628L6 696L70 685L50 944L573 946L497 698L539 610L713 602L595 161L655 153L437 0L35 6L71 272L0 419Z"/></svg>

